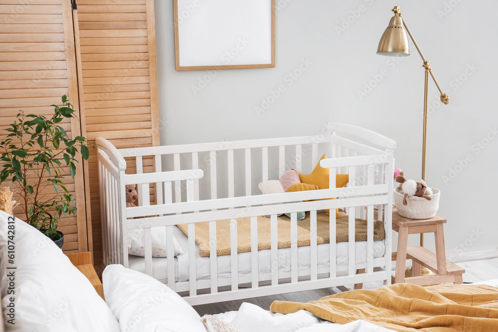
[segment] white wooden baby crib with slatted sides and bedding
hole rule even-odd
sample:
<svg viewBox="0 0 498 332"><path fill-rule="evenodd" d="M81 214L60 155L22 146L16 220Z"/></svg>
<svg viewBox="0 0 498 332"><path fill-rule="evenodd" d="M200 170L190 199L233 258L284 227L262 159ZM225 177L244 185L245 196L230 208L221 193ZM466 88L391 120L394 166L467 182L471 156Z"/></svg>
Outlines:
<svg viewBox="0 0 498 332"><path fill-rule="evenodd" d="M126 149L103 138L96 142L105 265L144 272L191 305L390 283L395 142L389 138L350 124L327 123L313 136ZM318 190L261 195L259 183L281 179L289 169L300 178L326 170L328 181ZM348 183L337 188L341 175ZM130 184L137 185L138 206L127 208L125 186ZM374 208L385 209L380 222L388 236L381 240L374 240ZM344 233L338 231L336 209L345 214ZM332 213L324 222L322 211L328 210ZM301 212L309 220L305 235L297 220ZM278 217L285 213L288 217ZM269 217L264 245L259 242L261 216ZM240 234L243 221L245 237ZM359 221L364 222L363 240L358 240ZM202 223L206 243L200 242ZM288 247L280 246L281 225L288 227ZM165 227L164 258L152 257L153 227ZM128 234L137 229L143 231L143 257L128 255ZM328 239L344 236L346 241L329 245ZM183 251L176 256L174 239Z"/></svg>

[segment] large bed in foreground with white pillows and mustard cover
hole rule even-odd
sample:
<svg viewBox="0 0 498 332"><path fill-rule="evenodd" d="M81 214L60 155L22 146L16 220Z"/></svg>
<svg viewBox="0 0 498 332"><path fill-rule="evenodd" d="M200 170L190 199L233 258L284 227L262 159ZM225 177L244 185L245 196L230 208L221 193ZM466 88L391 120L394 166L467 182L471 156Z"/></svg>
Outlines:
<svg viewBox="0 0 498 332"><path fill-rule="evenodd" d="M7 227L9 226L11 230L15 230L13 239L7 235ZM13 255L9 253L9 246L12 245L9 241L15 243ZM270 313L257 306L244 303L237 312L201 318L184 298L160 281L118 264L109 265L104 270L104 301L88 278L71 263L53 241L47 239L34 227L1 211L0 251L0 266L3 271L7 272L0 274L2 297L2 315L0 317L3 318L0 331L2 331L2 327L8 332L234 331L210 329L213 327L212 325L203 324L203 319L209 319L209 322L222 321L229 324L237 329L235 331L239 332L378 332L392 331L386 329L385 324L392 326L393 319L396 319L396 317L392 317L391 313L391 317L386 317L386 320L378 320L372 324L368 320L372 319L373 315L369 315L370 312L360 303L351 302L350 305L354 307L354 310L348 310L348 315L340 314L340 318L348 316L354 317L355 320L344 322L345 324L336 324L332 323L337 322L335 319L331 319L332 322L319 319L323 313L316 312L317 316L311 314L313 312L311 306L315 301L307 304L283 303L283 310L292 312L285 315ZM12 276L9 276L10 274ZM424 295L432 292L434 297L440 300L439 302L443 302L439 305L433 303L434 308L439 307L441 315L435 316L427 322L419 319L420 312L413 312L409 315L402 313L405 321L412 320L419 325L420 323L424 324L426 329L422 331L437 331L436 327L443 326L447 329L445 331L496 331L494 327L498 325L496 323L498 318L498 288L494 287L498 285L498 280L482 282L482 284L485 285L435 286L447 287L447 290L435 293L430 287L395 284L383 286L376 290L339 293L335 295L334 300L358 301L362 300L362 296L375 299L375 292L383 292L386 294L383 302L396 305L395 297L391 297L390 293L395 292L396 289L413 287L415 292L407 294L410 299L405 296L403 299L405 303L403 306L399 306L401 309L412 307L410 301L414 293ZM369 293L374 294L374 296L369 295ZM402 294L404 291L397 293ZM353 296L354 294L356 295ZM467 294L467 300L470 299L472 305L467 303L464 306L456 303L462 302L462 294ZM433 296L431 295L431 297ZM429 297L419 296L419 298L427 301ZM328 298L323 298L320 301L324 300L330 301ZM278 305L278 302L274 302L272 307ZM416 305L418 308L421 306L420 303ZM299 306L304 306L309 311L299 310ZM339 313L345 310L339 305L333 307L336 307ZM371 310L376 308L372 307ZM380 306L378 308L381 309ZM428 310L423 308L424 315L427 315ZM451 313L458 312L458 314L445 315L450 311ZM455 329L455 325L460 328ZM483 329L483 327L488 327L488 329ZM401 330L397 327L394 330L419 331L413 328Z"/></svg>

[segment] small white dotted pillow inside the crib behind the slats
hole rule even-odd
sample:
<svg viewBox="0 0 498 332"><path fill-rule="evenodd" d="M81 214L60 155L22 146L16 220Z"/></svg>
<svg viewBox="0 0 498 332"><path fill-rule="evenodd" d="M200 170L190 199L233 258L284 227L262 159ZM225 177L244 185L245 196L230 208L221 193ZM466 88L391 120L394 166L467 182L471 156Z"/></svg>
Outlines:
<svg viewBox="0 0 498 332"><path fill-rule="evenodd" d="M150 238L152 242L152 257L166 257L166 227L151 227ZM173 236L175 247L175 256L183 253L182 247ZM128 230L128 254L134 256L144 257L143 245L145 244L145 237L143 235L143 228Z"/></svg>

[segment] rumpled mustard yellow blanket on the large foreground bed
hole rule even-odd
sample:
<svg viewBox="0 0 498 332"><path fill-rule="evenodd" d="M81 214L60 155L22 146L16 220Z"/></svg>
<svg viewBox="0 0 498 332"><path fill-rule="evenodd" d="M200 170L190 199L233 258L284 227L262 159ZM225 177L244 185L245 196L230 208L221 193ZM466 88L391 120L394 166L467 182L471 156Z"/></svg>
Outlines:
<svg viewBox="0 0 498 332"><path fill-rule="evenodd" d="M308 303L275 301L270 311L298 310L340 324L364 320L394 331L498 331L498 288L486 285L394 284Z"/></svg>

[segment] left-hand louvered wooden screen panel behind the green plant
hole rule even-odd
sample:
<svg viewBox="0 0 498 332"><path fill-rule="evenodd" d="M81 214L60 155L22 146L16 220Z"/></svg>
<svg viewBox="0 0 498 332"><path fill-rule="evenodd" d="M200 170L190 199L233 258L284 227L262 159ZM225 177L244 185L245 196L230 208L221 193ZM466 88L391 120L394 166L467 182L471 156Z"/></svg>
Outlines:
<svg viewBox="0 0 498 332"><path fill-rule="evenodd" d="M0 129L12 123L19 110L26 114L53 114L66 94L79 110L75 45L69 0L1 0L0 4ZM62 122L70 136L81 133L80 122ZM4 137L5 133L0 131ZM67 172L69 174L69 172ZM66 187L74 195L77 215L63 217L66 253L88 250L83 163ZM6 184L8 185L8 184ZM11 186L11 189L14 189ZM54 192L49 187L47 192ZM16 195L18 197L18 195ZM20 215L21 209L14 213Z"/></svg>

